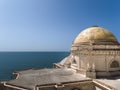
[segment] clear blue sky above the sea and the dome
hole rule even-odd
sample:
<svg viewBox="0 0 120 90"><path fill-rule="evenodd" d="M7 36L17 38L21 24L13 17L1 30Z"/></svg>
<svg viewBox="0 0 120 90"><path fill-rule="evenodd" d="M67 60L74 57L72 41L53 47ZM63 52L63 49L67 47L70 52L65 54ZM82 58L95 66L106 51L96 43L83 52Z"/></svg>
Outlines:
<svg viewBox="0 0 120 90"><path fill-rule="evenodd" d="M120 1L0 0L0 51L69 51L92 25L120 41Z"/></svg>

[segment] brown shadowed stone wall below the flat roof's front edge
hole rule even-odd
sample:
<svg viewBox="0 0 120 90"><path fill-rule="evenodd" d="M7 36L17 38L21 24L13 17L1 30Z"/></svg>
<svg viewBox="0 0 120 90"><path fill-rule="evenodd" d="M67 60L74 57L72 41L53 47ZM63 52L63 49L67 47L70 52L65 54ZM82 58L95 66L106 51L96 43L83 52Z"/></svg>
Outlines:
<svg viewBox="0 0 120 90"><path fill-rule="evenodd" d="M37 86L37 90L93 90L92 81L63 83L61 85Z"/></svg>

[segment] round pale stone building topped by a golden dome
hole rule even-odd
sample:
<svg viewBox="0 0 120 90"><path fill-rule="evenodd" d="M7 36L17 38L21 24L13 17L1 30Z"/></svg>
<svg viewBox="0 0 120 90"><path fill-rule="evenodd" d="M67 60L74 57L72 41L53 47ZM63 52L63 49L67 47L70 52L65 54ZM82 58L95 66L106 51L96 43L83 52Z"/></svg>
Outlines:
<svg viewBox="0 0 120 90"><path fill-rule="evenodd" d="M108 30L92 26L74 40L71 54L56 67L73 68L87 77L120 75L120 44Z"/></svg>

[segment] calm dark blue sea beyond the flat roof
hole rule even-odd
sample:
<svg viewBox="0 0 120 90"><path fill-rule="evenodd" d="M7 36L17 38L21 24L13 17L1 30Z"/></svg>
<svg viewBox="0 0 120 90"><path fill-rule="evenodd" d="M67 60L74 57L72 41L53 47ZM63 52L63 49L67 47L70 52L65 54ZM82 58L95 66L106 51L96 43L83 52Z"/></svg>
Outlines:
<svg viewBox="0 0 120 90"><path fill-rule="evenodd" d="M11 80L13 72L31 68L51 68L69 52L0 52L0 80Z"/></svg>

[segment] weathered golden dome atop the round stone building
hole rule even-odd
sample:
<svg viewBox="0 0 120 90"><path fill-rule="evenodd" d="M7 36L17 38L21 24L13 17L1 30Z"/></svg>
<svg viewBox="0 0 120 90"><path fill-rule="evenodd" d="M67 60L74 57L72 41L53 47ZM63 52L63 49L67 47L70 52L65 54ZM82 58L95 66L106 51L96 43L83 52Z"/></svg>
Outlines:
<svg viewBox="0 0 120 90"><path fill-rule="evenodd" d="M116 37L108 30L93 26L83 30L75 39L73 45L79 44L118 44Z"/></svg>

